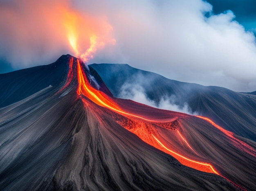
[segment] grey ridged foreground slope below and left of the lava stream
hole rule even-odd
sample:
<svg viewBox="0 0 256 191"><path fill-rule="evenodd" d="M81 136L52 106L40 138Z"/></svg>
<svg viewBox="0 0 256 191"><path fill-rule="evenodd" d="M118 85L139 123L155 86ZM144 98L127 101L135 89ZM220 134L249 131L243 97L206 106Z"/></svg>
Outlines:
<svg viewBox="0 0 256 191"><path fill-rule="evenodd" d="M66 75L71 58L61 57ZM82 101L75 80L61 92L58 83L0 109L0 190L237 189L220 176L181 165L120 126L108 109Z"/></svg>

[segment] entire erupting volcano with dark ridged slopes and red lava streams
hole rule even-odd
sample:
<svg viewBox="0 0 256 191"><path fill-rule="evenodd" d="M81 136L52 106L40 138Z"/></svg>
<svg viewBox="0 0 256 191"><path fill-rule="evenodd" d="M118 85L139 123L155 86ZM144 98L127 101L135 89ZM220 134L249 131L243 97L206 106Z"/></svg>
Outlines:
<svg viewBox="0 0 256 191"><path fill-rule="evenodd" d="M63 55L0 75L1 190L253 190L256 143L112 96Z"/></svg>

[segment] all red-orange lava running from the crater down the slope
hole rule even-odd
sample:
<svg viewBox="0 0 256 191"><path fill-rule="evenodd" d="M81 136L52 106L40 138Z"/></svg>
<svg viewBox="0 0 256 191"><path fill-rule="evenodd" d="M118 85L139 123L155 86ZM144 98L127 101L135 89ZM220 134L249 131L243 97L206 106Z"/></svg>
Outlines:
<svg viewBox="0 0 256 191"><path fill-rule="evenodd" d="M213 164L217 164L216 162L218 162L218 160L211 160L211 156L207 156L207 151L201 152L200 150L198 150L198 147L195 147L195 144L198 144L199 142L197 143L197 141L189 139L190 136L186 132L186 126L183 126L183 122L179 122L180 117L184 117L184 119L189 119L189 117L191 116L186 114L173 114L172 112L171 115L173 115L173 117L169 115L166 115L166 117L162 117L160 116L161 114L152 118L150 117L150 115L140 116L140 114L138 114L140 112L131 109L133 107L132 105L127 106L126 108L125 102L121 101L119 103L119 101L115 101L107 94L94 88L90 82L93 81L90 79L90 70L89 68L86 68L81 59L76 59L72 57L69 60L68 64L69 70L67 72L66 83L58 92L62 91L63 89L68 89L70 87L69 84L71 83L73 85L77 84L77 97L78 99L81 99L83 101L86 107L87 105L90 105L88 102L88 100L90 100L93 103L103 108L106 108L102 111L110 110L107 113L110 114L110 116L112 117L112 119L114 119L116 123L118 123L121 127L124 127L126 130L132 132L133 134L137 135L142 141L144 141L148 145L151 145L156 149L159 149L166 154L173 156L184 166L191 167L198 171L213 173L225 178L222 175L221 166L213 166ZM128 102L128 104L130 103L131 102ZM143 107L145 108L145 106ZM147 109L149 108L146 107L146 110ZM154 112L161 113L160 110L152 110ZM240 148L246 148L245 151L252 154L252 147L249 147L249 145L247 145L243 141L235 138L231 132L222 129L222 127L216 125L207 118L201 116L198 116L198 118L208 121L209 123L211 123L211 125L223 132L225 136L228 136L228 138L232 138L233 143L236 143L236 145L233 144L234 146L240 145ZM200 147L200 145L198 146ZM213 163L211 164L211 162ZM221 173L216 168L218 168L218 170L221 169ZM223 171L223 174L225 173L226 171ZM230 180L228 181L231 182Z"/></svg>

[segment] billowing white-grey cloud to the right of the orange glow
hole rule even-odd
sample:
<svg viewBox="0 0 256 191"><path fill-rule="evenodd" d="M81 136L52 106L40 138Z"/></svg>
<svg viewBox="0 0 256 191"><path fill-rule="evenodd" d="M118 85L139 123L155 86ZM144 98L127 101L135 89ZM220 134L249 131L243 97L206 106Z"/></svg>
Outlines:
<svg viewBox="0 0 256 191"><path fill-rule="evenodd" d="M92 62L118 63L124 55L131 66L169 79L256 90L255 37L234 20L234 13L213 15L202 0L142 2L120 1L113 8L109 21L117 44L112 53L121 54L117 59L96 56Z"/></svg>

